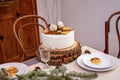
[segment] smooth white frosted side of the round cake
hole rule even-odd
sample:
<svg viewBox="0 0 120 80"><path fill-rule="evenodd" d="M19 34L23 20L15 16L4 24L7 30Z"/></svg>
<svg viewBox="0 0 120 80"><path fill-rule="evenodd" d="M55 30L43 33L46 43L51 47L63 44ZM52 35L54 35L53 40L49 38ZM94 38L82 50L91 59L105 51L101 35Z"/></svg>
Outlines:
<svg viewBox="0 0 120 80"><path fill-rule="evenodd" d="M41 33L41 40L44 46L51 49L64 49L74 45L74 30L68 34L53 35Z"/></svg>

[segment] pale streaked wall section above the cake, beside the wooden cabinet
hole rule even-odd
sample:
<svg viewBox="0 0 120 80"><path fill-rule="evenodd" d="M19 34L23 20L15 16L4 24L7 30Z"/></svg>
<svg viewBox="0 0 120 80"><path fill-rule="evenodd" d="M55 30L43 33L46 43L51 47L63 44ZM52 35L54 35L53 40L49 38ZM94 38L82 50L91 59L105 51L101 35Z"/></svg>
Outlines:
<svg viewBox="0 0 120 80"><path fill-rule="evenodd" d="M48 23L56 24L61 20L61 0L37 0L38 15Z"/></svg>

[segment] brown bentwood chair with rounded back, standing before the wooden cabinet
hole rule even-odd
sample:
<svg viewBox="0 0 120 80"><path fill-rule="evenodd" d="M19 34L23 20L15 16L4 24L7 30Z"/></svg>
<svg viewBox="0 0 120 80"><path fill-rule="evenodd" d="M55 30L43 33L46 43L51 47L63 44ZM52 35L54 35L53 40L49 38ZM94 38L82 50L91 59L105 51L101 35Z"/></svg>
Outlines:
<svg viewBox="0 0 120 80"><path fill-rule="evenodd" d="M26 21L27 19L35 20L36 22L35 21L27 22ZM29 42L30 38L28 37L28 39L25 39L25 37L26 37L26 34L29 36L31 35L31 30L29 30L30 27L34 27L34 29L38 30L38 26L40 26L41 28L45 29L45 27L42 25L43 23L42 24L38 23L39 19L44 22L45 27L48 25L47 21L43 17L38 16L38 15L25 15L25 16L19 17L13 24L13 32L14 32L15 38L17 39L21 49L24 52L24 54L21 53L22 54L21 62L25 59L25 57L29 58L29 57L35 55L35 52L38 49L38 46L40 43L40 41L39 41L40 38L38 38L38 41L37 41L38 44L33 48L34 50L33 49L31 50L28 48L28 44L30 44L30 42ZM22 24L20 23L21 21L23 22ZM33 28L31 28L31 29L33 29ZM29 32L29 34L28 34L28 32ZM39 37L39 33L36 35ZM36 40L36 39L34 39L34 40ZM31 42L31 44L32 43L34 43L34 41Z"/></svg>

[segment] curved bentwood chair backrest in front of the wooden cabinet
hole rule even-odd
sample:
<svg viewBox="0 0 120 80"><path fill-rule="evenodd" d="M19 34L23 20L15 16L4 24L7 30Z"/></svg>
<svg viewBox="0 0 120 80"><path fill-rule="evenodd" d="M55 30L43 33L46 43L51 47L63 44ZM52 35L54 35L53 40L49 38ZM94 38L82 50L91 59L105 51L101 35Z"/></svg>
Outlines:
<svg viewBox="0 0 120 80"><path fill-rule="evenodd" d="M35 21L32 21L32 22L29 22L29 21L26 21L27 19L32 19L32 20L35 20L36 19L36 22ZM43 23L39 23L38 21L40 20L43 22ZM23 22L22 24L20 24L20 22ZM42 24L44 24L45 26L43 26ZM21 46L21 49L23 50L24 54L23 54L23 58L21 61L23 61L24 59L24 56L25 57L30 57L31 54L30 54L30 51L29 51L29 54L28 54L28 50L27 50L27 46L28 46L28 43L25 41L24 37L25 35L30 35L31 36L31 30L28 30L30 27L35 27L37 29L39 29L38 27L41 27L43 28L43 30L45 30L45 28L48 26L48 23L47 21L41 17L41 16L38 16L38 15L25 15L25 16L22 16L22 17L19 17L18 19L15 20L14 24L13 24L13 33L15 35L15 38L17 39L19 45ZM27 28L26 28L27 27ZM26 28L26 29L25 29ZM25 33L26 32L29 32L28 33ZM24 33L22 33L24 32ZM22 34L22 35L21 35ZM24 35L23 35L24 34ZM29 41L29 39L27 40ZM40 41L39 41L40 42ZM27 43L27 44L26 44ZM38 49L38 46L39 44L36 46L36 50ZM35 51L36 51L35 50Z"/></svg>

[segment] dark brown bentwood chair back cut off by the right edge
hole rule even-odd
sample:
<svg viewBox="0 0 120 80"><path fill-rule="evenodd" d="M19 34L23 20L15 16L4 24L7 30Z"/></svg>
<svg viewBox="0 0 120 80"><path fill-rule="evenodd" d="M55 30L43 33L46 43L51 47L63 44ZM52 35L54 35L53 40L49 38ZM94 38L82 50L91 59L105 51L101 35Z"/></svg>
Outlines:
<svg viewBox="0 0 120 80"><path fill-rule="evenodd" d="M108 18L108 21L105 21L105 53L109 53L109 32L110 32L110 21L111 19L118 15L116 21L115 21L115 26L116 26L116 33L117 33L117 38L118 38L118 45L119 45L119 51L118 51L118 58L120 57L120 25L118 25L118 22L120 21L120 11L113 13L112 15L110 15L110 17Z"/></svg>

